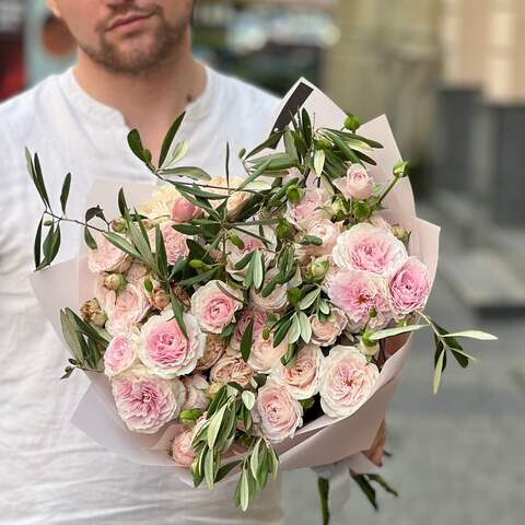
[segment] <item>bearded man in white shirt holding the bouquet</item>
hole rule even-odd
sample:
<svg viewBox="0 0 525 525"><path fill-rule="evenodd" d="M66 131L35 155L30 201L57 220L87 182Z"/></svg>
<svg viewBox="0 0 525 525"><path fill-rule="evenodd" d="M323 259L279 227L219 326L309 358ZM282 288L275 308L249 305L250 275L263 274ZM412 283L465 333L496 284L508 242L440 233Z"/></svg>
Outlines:
<svg viewBox="0 0 525 525"><path fill-rule="evenodd" d="M130 128L158 158L186 110L178 137L190 142L187 163L222 174L226 140L232 153L262 140L277 100L194 59L191 0L48 4L77 39L78 61L0 105L0 524L282 523L278 486L243 514L232 482L194 490L168 469L104 451L71 424L86 380L58 381L68 355L28 287L42 208L23 153L38 152L50 196L72 172L68 213L82 218L95 177L152 180L128 149ZM232 163L232 173L242 166ZM78 229L63 232L63 258L77 255L80 238Z"/></svg>

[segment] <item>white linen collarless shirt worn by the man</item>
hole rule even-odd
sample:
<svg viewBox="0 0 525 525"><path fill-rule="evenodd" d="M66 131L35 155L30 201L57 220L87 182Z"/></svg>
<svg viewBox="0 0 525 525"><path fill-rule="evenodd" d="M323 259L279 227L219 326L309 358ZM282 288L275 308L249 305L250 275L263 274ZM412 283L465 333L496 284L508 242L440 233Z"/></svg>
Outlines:
<svg viewBox="0 0 525 525"><path fill-rule="evenodd" d="M232 175L242 176L236 153L265 138L277 104L207 68L205 92L177 135L190 142L184 164L223 174L229 140ZM68 214L82 219L95 177L152 180L127 145L128 131L121 114L82 91L71 69L0 105L0 524L280 524L278 485L244 514L233 508L231 481L194 490L168 468L103 450L70 422L88 380L75 372L59 381L69 354L28 284L43 207L23 150L38 152L52 199L72 173ZM79 253L81 237L80 228L62 230L60 260Z"/></svg>

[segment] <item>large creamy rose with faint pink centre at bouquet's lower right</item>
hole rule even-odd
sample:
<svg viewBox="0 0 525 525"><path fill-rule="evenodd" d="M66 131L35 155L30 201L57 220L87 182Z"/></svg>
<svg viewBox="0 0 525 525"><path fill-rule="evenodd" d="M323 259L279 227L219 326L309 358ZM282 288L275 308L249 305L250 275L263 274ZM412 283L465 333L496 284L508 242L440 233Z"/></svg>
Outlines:
<svg viewBox="0 0 525 525"><path fill-rule="evenodd" d="M351 416L370 398L378 375L354 347L334 347L320 365L323 411L330 418Z"/></svg>

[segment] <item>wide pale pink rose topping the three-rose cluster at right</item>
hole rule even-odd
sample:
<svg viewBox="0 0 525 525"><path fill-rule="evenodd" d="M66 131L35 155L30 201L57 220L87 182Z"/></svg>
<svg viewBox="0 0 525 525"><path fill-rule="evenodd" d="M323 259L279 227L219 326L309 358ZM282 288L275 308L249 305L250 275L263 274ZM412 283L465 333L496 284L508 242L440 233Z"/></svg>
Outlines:
<svg viewBox="0 0 525 525"><path fill-rule="evenodd" d="M345 270L366 270L387 277L408 254L390 231L362 222L339 235L331 256Z"/></svg>

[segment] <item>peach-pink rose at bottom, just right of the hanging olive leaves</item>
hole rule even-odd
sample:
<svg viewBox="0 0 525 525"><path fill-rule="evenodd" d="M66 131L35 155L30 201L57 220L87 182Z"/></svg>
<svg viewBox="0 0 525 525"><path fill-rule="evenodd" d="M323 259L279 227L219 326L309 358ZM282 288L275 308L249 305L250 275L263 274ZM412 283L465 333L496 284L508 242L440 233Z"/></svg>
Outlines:
<svg viewBox="0 0 525 525"><path fill-rule="evenodd" d="M284 385L268 380L257 393L256 420L262 435L272 443L293 438L303 424L303 408Z"/></svg>

